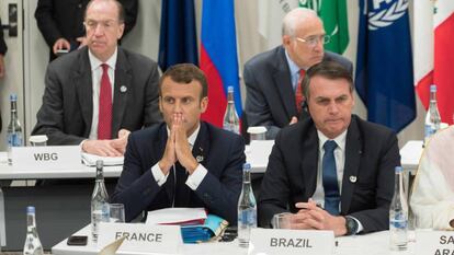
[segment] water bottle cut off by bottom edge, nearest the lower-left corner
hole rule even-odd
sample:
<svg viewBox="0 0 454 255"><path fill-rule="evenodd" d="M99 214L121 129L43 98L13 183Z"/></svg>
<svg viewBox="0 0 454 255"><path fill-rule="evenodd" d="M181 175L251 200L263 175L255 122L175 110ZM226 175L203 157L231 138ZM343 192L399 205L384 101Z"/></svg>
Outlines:
<svg viewBox="0 0 454 255"><path fill-rule="evenodd" d="M35 207L26 208L26 237L24 244L24 255L44 254L43 245L36 231Z"/></svg>

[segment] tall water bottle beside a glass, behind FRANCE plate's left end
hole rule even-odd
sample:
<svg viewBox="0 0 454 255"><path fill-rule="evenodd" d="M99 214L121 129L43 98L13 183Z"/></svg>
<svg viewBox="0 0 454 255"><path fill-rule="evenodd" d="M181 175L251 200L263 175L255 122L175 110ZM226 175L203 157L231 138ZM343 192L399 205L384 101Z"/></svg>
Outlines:
<svg viewBox="0 0 454 255"><path fill-rule="evenodd" d="M91 195L91 237L98 242L100 222L109 222L109 195L104 185L103 161L97 161L97 181Z"/></svg>

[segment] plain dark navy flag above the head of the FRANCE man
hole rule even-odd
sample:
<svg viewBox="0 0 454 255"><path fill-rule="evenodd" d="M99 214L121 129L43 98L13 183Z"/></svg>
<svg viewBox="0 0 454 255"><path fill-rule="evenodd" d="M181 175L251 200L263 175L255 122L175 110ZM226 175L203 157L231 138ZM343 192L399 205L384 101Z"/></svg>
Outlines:
<svg viewBox="0 0 454 255"><path fill-rule="evenodd" d="M194 0L162 0L158 62L162 71L182 62L198 66Z"/></svg>

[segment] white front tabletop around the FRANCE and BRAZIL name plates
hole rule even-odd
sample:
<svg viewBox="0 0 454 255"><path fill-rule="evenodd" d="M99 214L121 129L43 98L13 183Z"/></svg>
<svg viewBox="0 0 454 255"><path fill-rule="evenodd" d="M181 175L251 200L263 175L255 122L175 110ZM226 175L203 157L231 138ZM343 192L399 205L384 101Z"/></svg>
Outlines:
<svg viewBox="0 0 454 255"><path fill-rule="evenodd" d="M88 235L90 233L89 225L78 231L75 234ZM342 236L337 237L338 246L334 247L336 255L387 255L396 254L389 251L389 234L388 231L382 231L372 234L356 235L356 236ZM83 254L98 254L98 248L89 241L87 246L68 246L67 240L61 241L52 248L52 253L55 255L83 255ZM409 242L408 251L399 252L399 255L416 254L415 242ZM203 243L203 244L184 244L182 248L184 255L236 255L248 254L247 248L238 246L237 241L229 243ZM118 252L117 254L126 254ZM144 253L145 254L145 253Z"/></svg>

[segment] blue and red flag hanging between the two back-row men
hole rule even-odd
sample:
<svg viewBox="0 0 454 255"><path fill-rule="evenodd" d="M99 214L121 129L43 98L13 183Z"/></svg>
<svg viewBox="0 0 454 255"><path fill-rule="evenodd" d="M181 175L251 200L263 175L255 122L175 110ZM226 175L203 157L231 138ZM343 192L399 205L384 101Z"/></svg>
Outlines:
<svg viewBox="0 0 454 255"><path fill-rule="evenodd" d="M201 69L208 82L209 100L202 119L223 127L228 86L234 86L235 107L241 118L234 0L203 1Z"/></svg>

